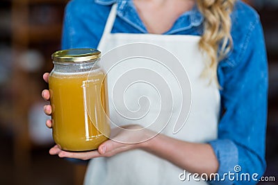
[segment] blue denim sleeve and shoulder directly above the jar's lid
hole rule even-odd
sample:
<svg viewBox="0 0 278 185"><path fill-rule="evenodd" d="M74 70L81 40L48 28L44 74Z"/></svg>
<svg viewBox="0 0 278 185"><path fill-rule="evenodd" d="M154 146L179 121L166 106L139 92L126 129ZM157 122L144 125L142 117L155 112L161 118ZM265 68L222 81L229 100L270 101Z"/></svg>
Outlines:
<svg viewBox="0 0 278 185"><path fill-rule="evenodd" d="M111 6L72 0L65 8L62 49L97 49Z"/></svg>

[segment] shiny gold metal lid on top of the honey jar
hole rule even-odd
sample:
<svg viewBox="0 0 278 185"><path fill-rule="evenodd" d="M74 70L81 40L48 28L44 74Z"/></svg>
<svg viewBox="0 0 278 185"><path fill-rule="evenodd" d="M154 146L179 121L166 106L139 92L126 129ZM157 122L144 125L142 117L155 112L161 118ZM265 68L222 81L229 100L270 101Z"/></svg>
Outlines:
<svg viewBox="0 0 278 185"><path fill-rule="evenodd" d="M51 55L54 62L86 62L100 58L97 49L67 49L56 51Z"/></svg>

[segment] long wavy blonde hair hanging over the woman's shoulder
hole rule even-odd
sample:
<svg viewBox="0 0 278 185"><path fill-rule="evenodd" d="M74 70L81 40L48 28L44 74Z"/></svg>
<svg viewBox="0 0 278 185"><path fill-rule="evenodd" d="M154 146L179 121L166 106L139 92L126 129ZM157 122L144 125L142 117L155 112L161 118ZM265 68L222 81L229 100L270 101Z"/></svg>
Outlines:
<svg viewBox="0 0 278 185"><path fill-rule="evenodd" d="M230 14L236 0L197 0L199 11L204 15L204 34L199 48L208 56L202 76L210 76L218 83L217 67L232 48ZM219 84L218 84L219 85Z"/></svg>

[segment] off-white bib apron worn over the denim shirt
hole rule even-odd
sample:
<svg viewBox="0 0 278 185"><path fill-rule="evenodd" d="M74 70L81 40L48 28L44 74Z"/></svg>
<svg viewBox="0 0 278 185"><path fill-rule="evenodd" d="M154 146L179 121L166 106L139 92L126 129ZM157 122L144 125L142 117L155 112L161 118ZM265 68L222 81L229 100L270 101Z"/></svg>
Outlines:
<svg viewBox="0 0 278 185"><path fill-rule="evenodd" d="M159 133L172 136L175 139L195 143L203 143L216 139L218 135L220 94L215 84L208 85L207 80L199 78L202 69L204 69L204 60L206 60L198 49L199 36L111 33L116 17L115 8L117 7L114 6L111 10L98 46L99 51L104 53L101 58L101 65L106 69L105 71L108 71L108 97L111 97L108 98L109 112L111 121L114 123L111 124L111 127L112 125L140 124L148 126L148 128L158 128L155 131L159 131L161 126L163 127L167 124ZM125 48L121 50L123 53L118 50L119 46L142 44L142 42L162 47L167 52L172 53L171 55L174 55L179 61L175 62L172 58L164 55L161 59L162 55L159 53L165 53L165 51L145 51L145 46L132 50ZM107 60L108 54L106 55L106 52L116 48L116 53L110 53L113 59ZM158 55L154 57L151 55L153 53L158 53ZM144 56L147 59L154 60L140 60L140 58L136 59L134 56ZM132 60L122 60L123 58ZM167 65L163 65L159 61L167 62ZM112 64L107 67L109 62ZM113 68L111 69L111 67ZM158 85L154 87L157 87L155 89L163 87L163 90L158 91L159 94L157 94L157 91L153 91L154 88L149 86L149 82L151 82L151 85L156 85L158 84L156 82L163 81L157 81L158 79L155 78L156 80L152 82L154 80L153 75L146 73L146 71L145 73L137 73L136 70L138 69L149 69L149 71L153 71L152 73L161 74L165 83L161 83L163 86ZM181 87L184 87L182 85L183 82L188 80L186 80L185 76L176 78L181 74L175 72L179 69L185 69L187 72L191 87L187 88L186 86L183 89L190 91L190 93L181 91ZM126 77L126 73L131 72L133 72L132 76L124 78L124 81L120 80L120 77ZM143 80L142 77L144 78ZM127 84L133 87L126 86L126 80L140 83L131 82ZM120 87L114 88L115 85L120 85ZM124 96L117 91L119 89L125 91ZM168 94L167 89L170 89L171 93ZM148 102L152 103L146 116L123 116L129 112L135 113L133 111L125 111L125 108L129 107L131 110L137 110L138 100L142 96L147 97L149 99ZM124 100L124 103L118 102L118 100ZM114 105L118 106L115 107ZM147 107L146 105L147 102L140 104L140 107ZM190 114L183 111L183 107L186 107L186 105L189 105ZM179 132L174 134L176 123L182 124L185 123L184 121L186 121L186 124L179 125ZM126 173L127 169L128 173ZM91 160L85 177L85 184L207 184L201 179L199 182L190 180L183 182L179 179L179 174L182 172L183 169L174 166L169 161L165 161L142 150L131 150L111 158Z"/></svg>

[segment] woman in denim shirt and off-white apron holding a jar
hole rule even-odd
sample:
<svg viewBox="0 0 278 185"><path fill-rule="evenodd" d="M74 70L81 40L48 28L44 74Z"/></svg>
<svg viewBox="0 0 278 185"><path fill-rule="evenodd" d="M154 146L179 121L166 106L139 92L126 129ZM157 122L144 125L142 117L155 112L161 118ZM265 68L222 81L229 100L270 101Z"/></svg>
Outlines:
<svg viewBox="0 0 278 185"><path fill-rule="evenodd" d="M73 0L67 5L63 49L104 52L140 41L189 60L183 65L192 82L193 109L181 132L161 133L136 144L108 140L92 152L65 152L54 146L50 154L92 159L85 184L256 184L265 170L268 89L265 44L256 12L234 0ZM206 53L200 69L186 53L191 45ZM44 74L45 81L48 75ZM209 88L204 78L212 82ZM49 100L49 91L42 91L42 97ZM51 107L45 106L44 112L50 115ZM152 131L124 134L120 136L145 140ZM183 170L212 176L185 179L188 173ZM220 178L213 178L214 173ZM250 179L228 177L231 173L249 174Z"/></svg>

